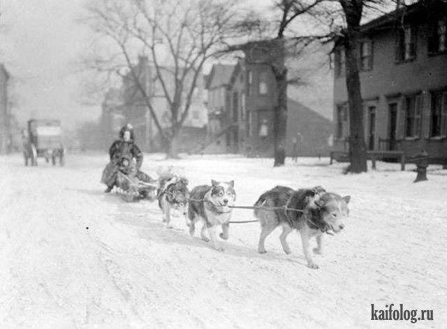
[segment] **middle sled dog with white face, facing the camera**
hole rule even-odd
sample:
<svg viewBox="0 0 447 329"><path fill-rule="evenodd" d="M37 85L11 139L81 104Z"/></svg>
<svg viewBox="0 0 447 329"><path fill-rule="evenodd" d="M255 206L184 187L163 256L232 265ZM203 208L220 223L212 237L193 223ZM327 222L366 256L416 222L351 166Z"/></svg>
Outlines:
<svg viewBox="0 0 447 329"><path fill-rule="evenodd" d="M194 187L191 191L191 200L189 202L188 217L191 221L189 224L189 234L194 235L196 230L196 222L200 219L203 224L200 236L202 240L209 242L213 249L223 251L223 247L217 246L217 226L222 226L222 233L219 236L223 240L228 239L229 221L231 218L231 206L234 205L236 193L234 189L234 181L216 182L211 181L212 186L200 185ZM209 239L205 235L205 229L208 231Z"/></svg>

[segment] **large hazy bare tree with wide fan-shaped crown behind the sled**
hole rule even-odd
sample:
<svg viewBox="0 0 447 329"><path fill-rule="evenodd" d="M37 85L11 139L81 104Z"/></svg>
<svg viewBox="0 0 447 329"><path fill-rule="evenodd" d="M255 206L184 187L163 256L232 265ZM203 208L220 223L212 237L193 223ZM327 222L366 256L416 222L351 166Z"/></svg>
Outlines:
<svg viewBox="0 0 447 329"><path fill-rule="evenodd" d="M131 80L152 116L168 156L177 156L179 132L191 108L203 65L217 55L232 33L237 16L234 1L223 0L103 0L87 7L85 22L98 42L108 40L115 52L107 60L93 61L96 68L113 71ZM135 66L139 55L148 58L148 71ZM90 61L91 62L91 61ZM147 88L148 80L156 84ZM152 97L168 105L169 126Z"/></svg>

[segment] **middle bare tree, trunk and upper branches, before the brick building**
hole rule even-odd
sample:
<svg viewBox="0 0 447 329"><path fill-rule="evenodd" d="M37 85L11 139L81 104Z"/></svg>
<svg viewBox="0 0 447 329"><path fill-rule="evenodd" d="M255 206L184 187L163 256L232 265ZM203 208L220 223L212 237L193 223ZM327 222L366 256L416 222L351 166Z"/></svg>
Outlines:
<svg viewBox="0 0 447 329"><path fill-rule="evenodd" d="M270 66L277 85L277 105L274 108L273 138L274 166L284 165L286 157L286 124L287 124L287 86L300 85L300 78L288 77L286 60L302 54L305 47L319 38L317 34L297 34L291 26L294 22L305 19L324 0L276 0L274 16L259 17L249 13L240 22L240 30L249 31L251 40L242 45L232 45L229 51L255 49L261 52L258 63ZM249 59L250 60L250 59Z"/></svg>

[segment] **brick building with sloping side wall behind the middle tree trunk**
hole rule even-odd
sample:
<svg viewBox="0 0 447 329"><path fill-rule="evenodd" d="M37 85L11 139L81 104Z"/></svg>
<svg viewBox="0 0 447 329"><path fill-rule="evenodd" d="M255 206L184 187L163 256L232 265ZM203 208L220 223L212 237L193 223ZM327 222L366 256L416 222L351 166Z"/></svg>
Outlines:
<svg viewBox="0 0 447 329"><path fill-rule="evenodd" d="M273 155L273 115L277 87L262 48L249 47L235 65L215 64L207 83L209 138L205 152ZM312 88L309 88L312 89ZM313 89L308 99L318 98ZM215 122L212 124L212 122ZM286 154L327 155L332 122L298 101L288 99ZM213 138L213 136L215 136Z"/></svg>

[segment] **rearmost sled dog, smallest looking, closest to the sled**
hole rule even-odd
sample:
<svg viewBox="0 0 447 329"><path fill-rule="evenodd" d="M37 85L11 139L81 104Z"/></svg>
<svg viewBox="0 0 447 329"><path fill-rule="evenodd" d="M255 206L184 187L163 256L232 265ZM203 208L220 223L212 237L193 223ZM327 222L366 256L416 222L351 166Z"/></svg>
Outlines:
<svg viewBox="0 0 447 329"><path fill-rule="evenodd" d="M184 215L186 225L189 224L186 212L188 208L189 189L188 180L178 176L163 176L159 179L159 189L157 191L159 206L163 212L163 222L166 228L172 228L170 225L170 210L174 209Z"/></svg>

